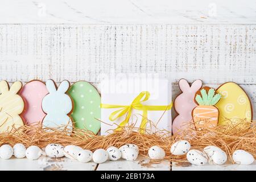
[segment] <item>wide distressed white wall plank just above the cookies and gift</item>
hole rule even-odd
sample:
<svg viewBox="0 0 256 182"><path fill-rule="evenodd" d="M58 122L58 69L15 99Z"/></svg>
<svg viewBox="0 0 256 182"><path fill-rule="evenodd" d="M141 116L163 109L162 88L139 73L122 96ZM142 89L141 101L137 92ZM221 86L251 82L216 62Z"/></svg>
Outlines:
<svg viewBox="0 0 256 182"><path fill-rule="evenodd" d="M159 73L256 84L256 25L0 25L0 78Z"/></svg>

